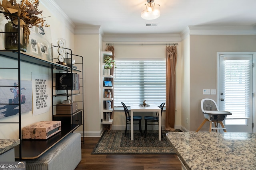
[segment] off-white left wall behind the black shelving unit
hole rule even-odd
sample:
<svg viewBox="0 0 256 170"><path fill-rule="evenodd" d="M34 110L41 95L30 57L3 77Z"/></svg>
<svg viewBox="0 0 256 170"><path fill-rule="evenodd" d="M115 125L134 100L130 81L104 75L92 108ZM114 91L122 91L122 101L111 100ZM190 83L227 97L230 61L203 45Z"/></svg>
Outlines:
<svg viewBox="0 0 256 170"><path fill-rule="evenodd" d="M41 2L41 1L40 1ZM44 5L43 5L44 4ZM46 8L47 6L47 8ZM47 0L42 0L42 3L40 3L38 9L43 10L43 16L50 16L45 18L46 22L50 25L51 29L51 34L52 34L52 43L56 43L56 39L58 38L64 38L67 42L67 47L70 47L71 49L74 48L74 35L73 35L73 30L70 29L67 25L70 24L67 20L62 20L62 15L56 13L56 10L49 10L51 8L51 4L48 4ZM52 12L50 12L52 11ZM4 19L5 20L5 19ZM4 21L1 19L1 23ZM7 21L7 20L6 20ZM1 29L2 24L0 25ZM3 44L1 43L3 40L3 37L0 37L0 47L4 47ZM13 66L13 62L9 62L8 59L1 58L1 67L7 66L6 64L11 64ZM48 74L49 77L51 77L51 72L49 68L44 68L41 66L36 66L33 64L28 64L28 63L21 63L21 77L22 80L31 80L31 72L32 73L37 73L37 74ZM12 76L7 76L10 74L5 73L3 70L1 70L0 78L7 78L7 79L14 79L15 76L14 74L11 74ZM50 81L51 83L51 81ZM30 125L32 123L42 121L42 120L52 120L52 108L50 107L50 111L33 116L32 111L27 112L27 113L22 113L22 127L26 125ZM0 119L0 122L10 122L10 121L18 121L18 115L13 115L10 117L5 117L3 119ZM18 138L18 124L0 124L0 139L12 139L12 138Z"/></svg>

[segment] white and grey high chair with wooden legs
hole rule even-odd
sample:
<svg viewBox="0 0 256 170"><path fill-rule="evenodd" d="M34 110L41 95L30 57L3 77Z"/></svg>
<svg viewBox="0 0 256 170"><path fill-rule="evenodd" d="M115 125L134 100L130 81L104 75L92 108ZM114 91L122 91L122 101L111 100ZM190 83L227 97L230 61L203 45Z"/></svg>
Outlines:
<svg viewBox="0 0 256 170"><path fill-rule="evenodd" d="M224 130L224 132L227 132L226 127L224 126L222 121L226 119L227 115L231 115L232 113L230 113L229 111L219 111L216 102L212 99L207 99L207 98L201 100L201 109L205 119L201 123L201 125L198 127L196 132L198 132L202 128L202 126L204 125L204 123L206 123L206 121L210 121L210 129L209 129L210 132L212 130L216 130L217 132L220 129ZM214 127L212 127L213 123L214 123ZM221 127L218 127L218 123L220 123Z"/></svg>

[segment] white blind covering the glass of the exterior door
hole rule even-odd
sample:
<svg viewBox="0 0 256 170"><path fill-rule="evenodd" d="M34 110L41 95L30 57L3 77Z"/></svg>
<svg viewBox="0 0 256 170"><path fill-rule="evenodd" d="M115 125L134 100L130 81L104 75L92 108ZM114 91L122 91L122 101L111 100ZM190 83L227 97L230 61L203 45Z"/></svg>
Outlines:
<svg viewBox="0 0 256 170"><path fill-rule="evenodd" d="M225 60L225 110L230 111L226 125L245 125L251 110L252 58Z"/></svg>

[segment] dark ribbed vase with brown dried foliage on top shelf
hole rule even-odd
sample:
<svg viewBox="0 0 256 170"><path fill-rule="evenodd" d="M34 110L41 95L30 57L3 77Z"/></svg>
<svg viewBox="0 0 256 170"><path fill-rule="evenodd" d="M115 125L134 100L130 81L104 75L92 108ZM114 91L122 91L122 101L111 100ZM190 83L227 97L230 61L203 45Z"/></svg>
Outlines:
<svg viewBox="0 0 256 170"><path fill-rule="evenodd" d="M9 20L5 25L5 49L7 50L18 50L18 18L20 19L20 28L23 29L21 33L22 39L21 43L21 51L26 52L26 47L29 43L29 35L30 29L32 26L48 26L45 24L45 20L43 18L38 17L38 15L42 15L42 11L38 10L39 0L21 0L20 4L16 2L16 0L2 0L2 4L0 2L0 10L3 10L6 13L15 14L8 15L4 14L5 18ZM18 17L17 17L18 16ZM14 32L14 33L10 33Z"/></svg>

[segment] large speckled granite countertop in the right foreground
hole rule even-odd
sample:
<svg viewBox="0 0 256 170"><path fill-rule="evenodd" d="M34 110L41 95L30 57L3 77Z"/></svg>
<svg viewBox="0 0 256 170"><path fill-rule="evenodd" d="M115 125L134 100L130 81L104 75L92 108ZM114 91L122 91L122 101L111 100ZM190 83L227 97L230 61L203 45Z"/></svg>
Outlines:
<svg viewBox="0 0 256 170"><path fill-rule="evenodd" d="M166 136L188 170L256 169L256 133L171 132Z"/></svg>

